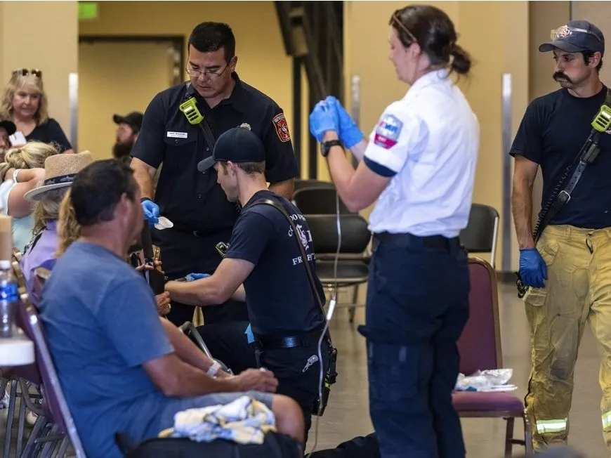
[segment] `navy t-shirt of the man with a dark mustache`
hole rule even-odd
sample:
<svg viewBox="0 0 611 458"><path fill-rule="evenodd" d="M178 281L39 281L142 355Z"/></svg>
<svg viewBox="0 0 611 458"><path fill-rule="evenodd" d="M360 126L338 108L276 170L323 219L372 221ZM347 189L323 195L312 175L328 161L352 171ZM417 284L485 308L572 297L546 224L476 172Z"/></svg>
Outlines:
<svg viewBox="0 0 611 458"><path fill-rule="evenodd" d="M604 86L589 98L574 97L567 89L560 89L533 100L527 107L510 154L541 166L542 205L548 202L567 167L579 155L606 96ZM599 145L598 159L586 167L570 201L551 224L589 229L611 226L611 136L601 134Z"/></svg>

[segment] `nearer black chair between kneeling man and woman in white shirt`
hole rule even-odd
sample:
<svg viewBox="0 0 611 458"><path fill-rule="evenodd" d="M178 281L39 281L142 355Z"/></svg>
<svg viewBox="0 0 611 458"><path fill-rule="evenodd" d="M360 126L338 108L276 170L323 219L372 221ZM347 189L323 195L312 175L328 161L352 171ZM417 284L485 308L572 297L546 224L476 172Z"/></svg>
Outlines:
<svg viewBox="0 0 611 458"><path fill-rule="evenodd" d="M354 322L358 304L358 287L369 278L369 252L367 247L372 234L367 228L367 221L359 214L341 214L339 217L341 229L341 247L335 266L338 246L338 224L336 215L306 215L310 232L314 241L316 254L316 273L320 282L327 288L352 287L353 299L348 304L337 304L348 307L350 322Z"/></svg>

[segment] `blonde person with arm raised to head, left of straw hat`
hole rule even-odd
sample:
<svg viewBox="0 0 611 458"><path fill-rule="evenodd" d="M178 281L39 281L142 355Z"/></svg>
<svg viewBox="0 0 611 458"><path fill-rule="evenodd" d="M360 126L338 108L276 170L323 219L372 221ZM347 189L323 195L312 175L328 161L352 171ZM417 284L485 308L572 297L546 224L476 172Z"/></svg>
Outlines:
<svg viewBox="0 0 611 458"><path fill-rule="evenodd" d="M44 162L58 150L47 143L29 142L11 148L0 163L0 213L13 218L13 247L25 251L32 240L33 205L26 192L44 179Z"/></svg>

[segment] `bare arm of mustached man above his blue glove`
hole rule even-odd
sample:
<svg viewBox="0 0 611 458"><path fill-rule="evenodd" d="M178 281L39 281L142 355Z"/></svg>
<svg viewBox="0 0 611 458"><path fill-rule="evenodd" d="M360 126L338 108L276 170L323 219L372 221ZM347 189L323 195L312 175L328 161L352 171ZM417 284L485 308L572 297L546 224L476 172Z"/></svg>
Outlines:
<svg viewBox="0 0 611 458"><path fill-rule="evenodd" d="M513 195L511 207L515 234L520 249L534 247L532 238L532 185L537 177L539 164L522 156L515 157L513 171Z"/></svg>

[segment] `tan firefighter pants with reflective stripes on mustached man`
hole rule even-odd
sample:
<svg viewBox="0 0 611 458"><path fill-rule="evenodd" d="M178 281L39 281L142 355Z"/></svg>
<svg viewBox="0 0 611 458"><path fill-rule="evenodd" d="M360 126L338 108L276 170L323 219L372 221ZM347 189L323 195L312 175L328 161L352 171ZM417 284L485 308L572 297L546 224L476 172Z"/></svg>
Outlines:
<svg viewBox="0 0 611 458"><path fill-rule="evenodd" d="M525 402L533 447L567 440L574 367L589 322L601 357L600 409L611 452L611 228L549 226L537 249L548 280L524 296L532 348Z"/></svg>

